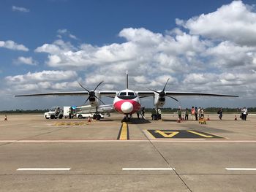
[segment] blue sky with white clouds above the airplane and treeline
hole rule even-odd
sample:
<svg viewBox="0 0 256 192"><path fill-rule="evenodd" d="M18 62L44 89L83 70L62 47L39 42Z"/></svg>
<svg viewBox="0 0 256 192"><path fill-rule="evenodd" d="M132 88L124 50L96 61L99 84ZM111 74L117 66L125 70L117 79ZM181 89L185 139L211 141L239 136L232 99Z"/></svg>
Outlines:
<svg viewBox="0 0 256 192"><path fill-rule="evenodd" d="M86 97L14 95L102 80L99 91L120 91L127 70L134 91L162 90L170 78L166 91L240 96L165 107L256 107L255 1L0 1L0 110L78 106Z"/></svg>

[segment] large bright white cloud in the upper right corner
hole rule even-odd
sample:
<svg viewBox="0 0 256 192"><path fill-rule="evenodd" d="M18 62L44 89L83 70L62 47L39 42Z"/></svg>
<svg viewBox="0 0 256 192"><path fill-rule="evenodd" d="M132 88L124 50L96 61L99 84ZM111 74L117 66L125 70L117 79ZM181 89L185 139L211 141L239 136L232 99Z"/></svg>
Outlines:
<svg viewBox="0 0 256 192"><path fill-rule="evenodd" d="M240 45L256 45L256 13L242 1L223 5L217 11L176 23L188 28L190 34L230 40Z"/></svg>

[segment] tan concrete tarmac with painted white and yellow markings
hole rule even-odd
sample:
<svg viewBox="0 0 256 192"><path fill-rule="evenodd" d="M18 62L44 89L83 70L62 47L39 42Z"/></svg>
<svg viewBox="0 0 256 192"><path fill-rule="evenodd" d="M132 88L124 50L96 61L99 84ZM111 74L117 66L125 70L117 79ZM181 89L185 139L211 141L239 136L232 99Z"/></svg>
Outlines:
<svg viewBox="0 0 256 192"><path fill-rule="evenodd" d="M256 191L256 115L208 115L2 115L0 191Z"/></svg>

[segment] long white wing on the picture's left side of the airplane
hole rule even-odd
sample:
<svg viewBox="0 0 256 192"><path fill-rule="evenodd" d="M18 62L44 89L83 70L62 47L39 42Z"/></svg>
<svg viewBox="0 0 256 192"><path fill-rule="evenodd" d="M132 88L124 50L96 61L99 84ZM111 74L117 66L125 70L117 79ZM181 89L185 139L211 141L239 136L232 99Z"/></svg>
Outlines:
<svg viewBox="0 0 256 192"><path fill-rule="evenodd" d="M117 91L98 91L100 96L114 97ZM18 96L86 96L89 95L87 91L69 91L69 92L53 92L53 93L31 93Z"/></svg>

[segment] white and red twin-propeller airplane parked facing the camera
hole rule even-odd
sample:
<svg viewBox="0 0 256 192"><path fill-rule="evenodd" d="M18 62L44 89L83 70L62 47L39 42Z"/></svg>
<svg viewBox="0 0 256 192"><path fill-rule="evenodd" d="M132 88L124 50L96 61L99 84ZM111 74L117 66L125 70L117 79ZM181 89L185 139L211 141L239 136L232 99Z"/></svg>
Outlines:
<svg viewBox="0 0 256 192"><path fill-rule="evenodd" d="M167 80L167 82L169 79ZM102 81L103 82L103 81ZM100 102L104 104L104 102L100 99L101 96L106 96L113 98L113 108L117 112L124 114L124 119L128 120L129 115L132 115L135 112L140 110L141 104L140 99L148 96L154 97L154 106L156 109L161 108L165 105L165 97L169 97L175 101L178 99L173 96L221 96L221 97L238 97L233 95L223 95L223 94L215 94L215 93L192 93L192 92L175 92L175 91L165 91L167 82L165 83L162 91L155 91L153 89L148 88L149 91L132 91L128 89L128 72L126 76L126 88L121 91L97 91L99 84L94 88L94 90L89 91L87 88L83 87L79 82L81 88L85 91L69 91L69 92L53 92L53 93L33 93L33 94L23 94L16 95L15 97L20 96L85 96L88 95L85 103L89 101L92 107L99 107ZM97 111L97 110L96 110Z"/></svg>

